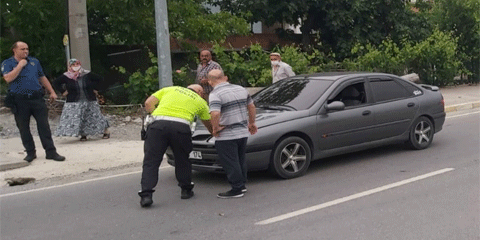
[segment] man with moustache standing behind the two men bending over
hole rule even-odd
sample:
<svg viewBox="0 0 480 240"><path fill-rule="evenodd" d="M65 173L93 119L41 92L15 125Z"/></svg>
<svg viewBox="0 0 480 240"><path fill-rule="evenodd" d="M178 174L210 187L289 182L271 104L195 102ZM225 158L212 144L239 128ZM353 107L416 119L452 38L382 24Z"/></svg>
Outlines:
<svg viewBox="0 0 480 240"><path fill-rule="evenodd" d="M213 69L220 69L220 64L212 60L212 52L209 50L200 51L200 64L197 67L197 78L195 83L200 84L203 87L203 98L208 101L208 95L213 88L208 84L208 72Z"/></svg>

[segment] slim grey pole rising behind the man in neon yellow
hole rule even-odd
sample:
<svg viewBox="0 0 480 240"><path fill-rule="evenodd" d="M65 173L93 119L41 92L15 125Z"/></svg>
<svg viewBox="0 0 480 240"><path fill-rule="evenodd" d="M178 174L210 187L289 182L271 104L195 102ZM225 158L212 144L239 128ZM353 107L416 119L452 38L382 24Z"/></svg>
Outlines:
<svg viewBox="0 0 480 240"><path fill-rule="evenodd" d="M155 0L155 25L157 32L158 85L160 88L164 88L173 85L166 0Z"/></svg>

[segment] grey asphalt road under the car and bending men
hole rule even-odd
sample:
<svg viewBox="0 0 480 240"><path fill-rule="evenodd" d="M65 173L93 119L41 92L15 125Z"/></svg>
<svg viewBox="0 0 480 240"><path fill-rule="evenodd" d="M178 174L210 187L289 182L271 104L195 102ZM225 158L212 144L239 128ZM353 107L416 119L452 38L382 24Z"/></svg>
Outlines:
<svg viewBox="0 0 480 240"><path fill-rule="evenodd" d="M448 115L422 151L394 145L313 162L307 174L249 176L239 199L223 175L195 173L180 199L163 168L154 206L140 174L0 195L0 239L480 239L480 114Z"/></svg>

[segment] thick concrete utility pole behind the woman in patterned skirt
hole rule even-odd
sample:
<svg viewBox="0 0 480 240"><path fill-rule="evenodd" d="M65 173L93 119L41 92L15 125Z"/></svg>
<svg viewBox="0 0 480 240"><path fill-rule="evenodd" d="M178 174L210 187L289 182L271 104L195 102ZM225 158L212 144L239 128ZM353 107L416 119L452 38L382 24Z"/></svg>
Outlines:
<svg viewBox="0 0 480 240"><path fill-rule="evenodd" d="M87 0L68 0L68 19L71 56L80 60L83 68L92 69L88 40Z"/></svg>

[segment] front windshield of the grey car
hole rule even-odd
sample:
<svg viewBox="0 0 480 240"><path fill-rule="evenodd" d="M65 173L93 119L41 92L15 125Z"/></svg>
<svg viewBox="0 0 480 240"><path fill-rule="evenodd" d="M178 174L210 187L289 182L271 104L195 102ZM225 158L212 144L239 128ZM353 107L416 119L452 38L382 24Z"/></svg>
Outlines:
<svg viewBox="0 0 480 240"><path fill-rule="evenodd" d="M305 110L327 90L332 81L291 78L254 94L255 106L278 110Z"/></svg>

